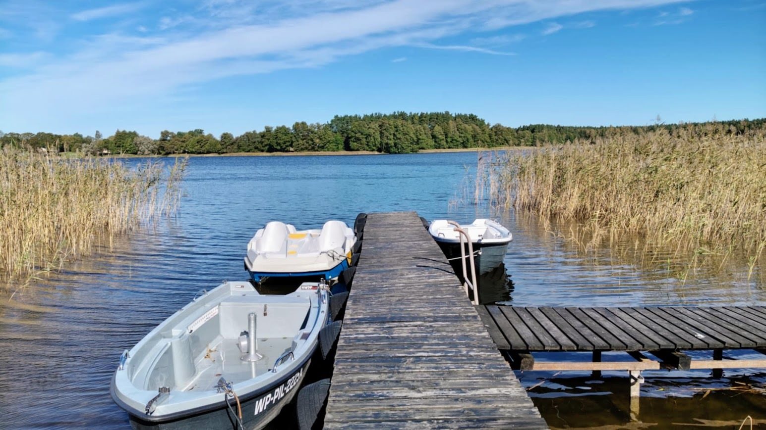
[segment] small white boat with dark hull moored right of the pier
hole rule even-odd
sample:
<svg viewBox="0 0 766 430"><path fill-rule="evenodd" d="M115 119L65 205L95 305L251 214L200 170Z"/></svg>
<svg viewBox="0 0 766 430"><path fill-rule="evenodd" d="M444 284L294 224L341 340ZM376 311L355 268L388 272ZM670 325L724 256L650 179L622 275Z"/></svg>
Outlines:
<svg viewBox="0 0 766 430"><path fill-rule="evenodd" d="M480 275L502 263L508 244L513 239L506 227L493 220L480 218L470 224L460 224L460 228L470 236L473 252L478 252L474 262ZM460 235L455 231L455 226L447 223L447 220L434 220L428 226L428 233L437 241L447 259L460 259Z"/></svg>

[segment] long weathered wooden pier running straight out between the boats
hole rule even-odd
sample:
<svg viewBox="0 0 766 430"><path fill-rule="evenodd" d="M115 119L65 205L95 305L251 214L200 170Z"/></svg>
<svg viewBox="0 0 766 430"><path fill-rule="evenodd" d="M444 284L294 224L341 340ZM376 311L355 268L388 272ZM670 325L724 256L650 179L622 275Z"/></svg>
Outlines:
<svg viewBox="0 0 766 430"><path fill-rule="evenodd" d="M326 428L547 428L416 213L372 213Z"/></svg>

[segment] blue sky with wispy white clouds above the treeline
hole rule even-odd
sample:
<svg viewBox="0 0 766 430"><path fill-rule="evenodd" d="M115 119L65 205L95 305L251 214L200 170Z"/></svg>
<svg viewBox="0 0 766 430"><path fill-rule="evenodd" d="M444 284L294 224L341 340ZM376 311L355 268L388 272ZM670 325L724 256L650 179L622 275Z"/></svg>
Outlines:
<svg viewBox="0 0 766 430"><path fill-rule="evenodd" d="M0 0L0 130L766 116L755 0Z"/></svg>

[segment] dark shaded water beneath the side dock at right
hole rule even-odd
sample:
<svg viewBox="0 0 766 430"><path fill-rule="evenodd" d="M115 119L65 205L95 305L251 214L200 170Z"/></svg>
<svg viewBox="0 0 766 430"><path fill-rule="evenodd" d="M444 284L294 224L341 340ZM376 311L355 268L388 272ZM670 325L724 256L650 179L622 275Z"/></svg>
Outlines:
<svg viewBox="0 0 766 430"><path fill-rule="evenodd" d="M746 374L711 381L645 372L640 413L631 421L627 372L600 378L535 373L522 380L544 382L529 396L551 428L739 428L748 415L754 428L766 427L763 380Z"/></svg>

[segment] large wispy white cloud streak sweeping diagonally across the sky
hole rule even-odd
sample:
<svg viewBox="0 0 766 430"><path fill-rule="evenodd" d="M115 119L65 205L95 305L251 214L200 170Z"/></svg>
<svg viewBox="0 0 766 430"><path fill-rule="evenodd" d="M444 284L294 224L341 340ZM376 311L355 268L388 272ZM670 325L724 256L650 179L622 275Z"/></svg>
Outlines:
<svg viewBox="0 0 766 430"><path fill-rule="evenodd" d="M231 18L234 11L244 10L241 8L248 7L250 2L210 0L197 11L184 11L178 16L166 14L167 21L161 25L167 25L166 29L171 24L175 26L172 31L162 32L163 37L151 37L152 31L145 33L150 37L102 34L72 45L77 48L70 48L59 57L38 57L34 71L0 80L0 99L4 101L0 104L0 117L25 128L26 124L34 124L36 118L64 118L62 112L87 115L119 103L140 106L148 96L153 100L169 99L190 86L211 80L322 67L342 57L383 47L512 55L489 49L501 46L499 39L492 41L486 37L483 43L473 41L466 45L446 43L444 38L584 11L643 8L676 1L273 0L259 2L256 13L234 19ZM123 18L121 15L144 5L122 3L71 16L80 21L117 15ZM185 18L191 17L192 12L193 19ZM141 23L146 25L146 21ZM137 24L133 21L130 28ZM545 34L558 30L561 25L552 23ZM522 36L511 35L507 42L516 38L520 40ZM32 59L35 52L28 55ZM6 61L10 60L14 58L6 57ZM41 99L46 103L39 103Z"/></svg>

